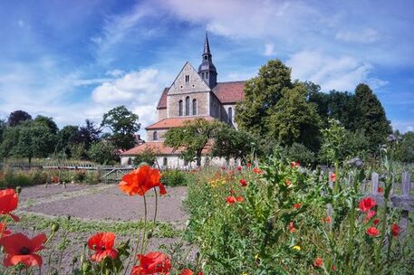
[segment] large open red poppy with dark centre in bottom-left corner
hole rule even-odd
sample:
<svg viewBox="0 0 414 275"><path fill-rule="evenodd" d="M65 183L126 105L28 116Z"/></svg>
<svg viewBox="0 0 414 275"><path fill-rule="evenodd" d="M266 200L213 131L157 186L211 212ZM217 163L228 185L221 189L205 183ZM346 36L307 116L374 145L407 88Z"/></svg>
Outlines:
<svg viewBox="0 0 414 275"><path fill-rule="evenodd" d="M15 233L0 239L0 245L5 249L5 267L23 263L26 267L41 266L42 257L36 254L43 250L46 235L40 234L33 239L26 237L23 233Z"/></svg>

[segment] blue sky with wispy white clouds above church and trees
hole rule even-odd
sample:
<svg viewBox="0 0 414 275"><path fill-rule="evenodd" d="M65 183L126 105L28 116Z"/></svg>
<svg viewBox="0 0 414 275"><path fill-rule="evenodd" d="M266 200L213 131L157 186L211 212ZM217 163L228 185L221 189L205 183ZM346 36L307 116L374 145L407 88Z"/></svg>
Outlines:
<svg viewBox="0 0 414 275"><path fill-rule="evenodd" d="M414 128L413 1L71 0L0 3L0 118L15 109L60 127L126 105L143 126L206 30L218 81L269 59L323 90L368 83L394 128ZM142 131L141 131L142 132Z"/></svg>

